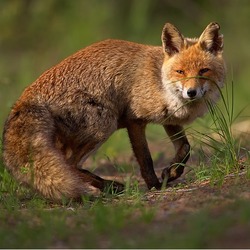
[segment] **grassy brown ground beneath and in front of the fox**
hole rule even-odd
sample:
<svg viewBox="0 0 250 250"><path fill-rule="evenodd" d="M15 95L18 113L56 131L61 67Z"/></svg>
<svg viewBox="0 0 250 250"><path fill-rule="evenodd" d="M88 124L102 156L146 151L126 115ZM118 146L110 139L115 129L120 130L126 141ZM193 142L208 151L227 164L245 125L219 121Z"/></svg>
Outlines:
<svg viewBox="0 0 250 250"><path fill-rule="evenodd" d="M168 145L149 141L158 176L174 154ZM197 171L198 152L192 151L184 174L162 191L147 190L131 150L90 158L86 168L132 187L121 195L84 197L81 203L46 201L2 170L0 247L250 248L248 151L238 152L240 168L223 178L202 175L212 167L209 155ZM224 161L219 161L223 171Z"/></svg>

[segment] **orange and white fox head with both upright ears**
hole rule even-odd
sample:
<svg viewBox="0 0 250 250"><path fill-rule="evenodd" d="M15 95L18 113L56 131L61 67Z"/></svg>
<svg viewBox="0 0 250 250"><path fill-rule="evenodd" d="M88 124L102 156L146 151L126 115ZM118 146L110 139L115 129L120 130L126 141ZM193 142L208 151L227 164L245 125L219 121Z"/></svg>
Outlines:
<svg viewBox="0 0 250 250"><path fill-rule="evenodd" d="M165 59L162 82L167 95L182 102L202 98L216 101L223 87L225 63L223 35L218 23L210 23L199 38L185 38L172 24L166 23L162 31Z"/></svg>

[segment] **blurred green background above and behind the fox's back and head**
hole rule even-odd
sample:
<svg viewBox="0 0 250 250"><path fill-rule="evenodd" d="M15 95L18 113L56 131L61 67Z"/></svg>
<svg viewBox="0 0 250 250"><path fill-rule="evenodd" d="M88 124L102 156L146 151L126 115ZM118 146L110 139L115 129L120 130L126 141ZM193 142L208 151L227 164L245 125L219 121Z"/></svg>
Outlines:
<svg viewBox="0 0 250 250"><path fill-rule="evenodd" d="M23 89L75 51L106 38L161 45L165 22L195 37L211 21L224 34L235 113L245 108L241 117L246 119L249 0L0 0L0 132Z"/></svg>

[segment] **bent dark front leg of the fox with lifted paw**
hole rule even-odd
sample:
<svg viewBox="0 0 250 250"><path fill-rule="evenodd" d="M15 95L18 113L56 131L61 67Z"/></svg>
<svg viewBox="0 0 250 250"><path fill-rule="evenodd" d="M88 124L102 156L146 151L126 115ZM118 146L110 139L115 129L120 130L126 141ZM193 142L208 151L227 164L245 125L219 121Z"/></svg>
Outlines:
<svg viewBox="0 0 250 250"><path fill-rule="evenodd" d="M182 175L184 165L190 156L190 145L183 127L178 125L165 125L164 129L175 147L175 157L169 167L164 168L162 171L162 179L170 182Z"/></svg>

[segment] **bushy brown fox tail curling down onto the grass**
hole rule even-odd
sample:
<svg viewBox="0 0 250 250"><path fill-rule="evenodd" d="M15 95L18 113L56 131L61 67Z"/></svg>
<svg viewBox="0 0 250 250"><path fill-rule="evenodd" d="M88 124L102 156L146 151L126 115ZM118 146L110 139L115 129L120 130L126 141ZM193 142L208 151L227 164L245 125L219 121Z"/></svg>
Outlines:
<svg viewBox="0 0 250 250"><path fill-rule="evenodd" d="M4 126L3 160L21 183L52 200L78 198L93 191L91 179L66 163L55 148L53 119L43 107L12 111Z"/></svg>

